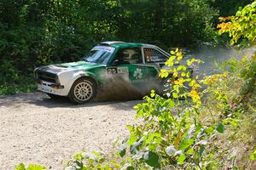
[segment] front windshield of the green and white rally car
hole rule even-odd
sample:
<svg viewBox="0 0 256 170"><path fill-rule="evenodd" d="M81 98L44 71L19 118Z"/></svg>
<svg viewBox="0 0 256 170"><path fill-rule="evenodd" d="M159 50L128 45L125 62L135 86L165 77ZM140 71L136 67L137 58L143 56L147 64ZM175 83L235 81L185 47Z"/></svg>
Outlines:
<svg viewBox="0 0 256 170"><path fill-rule="evenodd" d="M96 47L92 48L88 54L84 56L84 60L90 63L106 65L109 58L113 54L114 48Z"/></svg>

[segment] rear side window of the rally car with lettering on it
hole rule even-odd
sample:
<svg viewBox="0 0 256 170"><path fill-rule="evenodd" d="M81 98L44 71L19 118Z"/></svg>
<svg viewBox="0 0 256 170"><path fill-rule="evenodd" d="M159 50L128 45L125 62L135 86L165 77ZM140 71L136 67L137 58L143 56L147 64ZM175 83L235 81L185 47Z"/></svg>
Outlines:
<svg viewBox="0 0 256 170"><path fill-rule="evenodd" d="M161 54L158 50L154 48L144 48L143 51L146 63L166 62L166 60L168 59L166 55Z"/></svg>

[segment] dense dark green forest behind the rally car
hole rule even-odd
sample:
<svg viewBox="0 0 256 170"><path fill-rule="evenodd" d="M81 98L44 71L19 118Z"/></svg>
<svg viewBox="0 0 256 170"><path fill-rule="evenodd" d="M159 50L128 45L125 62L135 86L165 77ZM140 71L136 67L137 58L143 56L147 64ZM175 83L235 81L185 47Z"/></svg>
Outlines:
<svg viewBox="0 0 256 170"><path fill-rule="evenodd" d="M35 89L39 65L76 61L107 40L147 42L169 51L226 46L218 16L252 0L1 0L0 94Z"/></svg>

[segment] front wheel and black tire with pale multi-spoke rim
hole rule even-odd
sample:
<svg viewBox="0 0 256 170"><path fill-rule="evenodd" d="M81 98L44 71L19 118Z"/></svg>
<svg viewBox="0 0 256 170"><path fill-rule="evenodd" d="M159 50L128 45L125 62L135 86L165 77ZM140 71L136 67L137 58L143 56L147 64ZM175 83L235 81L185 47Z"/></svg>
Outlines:
<svg viewBox="0 0 256 170"><path fill-rule="evenodd" d="M96 96L96 82L90 78L75 81L69 91L68 98L75 104L84 104Z"/></svg>

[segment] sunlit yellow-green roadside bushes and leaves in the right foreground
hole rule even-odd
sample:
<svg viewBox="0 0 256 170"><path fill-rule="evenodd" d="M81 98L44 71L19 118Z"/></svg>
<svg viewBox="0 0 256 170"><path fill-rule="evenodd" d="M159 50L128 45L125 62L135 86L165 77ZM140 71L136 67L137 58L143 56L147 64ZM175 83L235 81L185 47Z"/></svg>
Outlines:
<svg viewBox="0 0 256 170"><path fill-rule="evenodd" d="M255 45L256 3L236 16L220 18L219 33L227 32L232 45ZM116 153L80 152L67 162L75 169L255 169L256 168L256 54L219 65L222 73L189 77L187 67L200 65L183 59L178 48L162 70L166 97L151 91L136 105L140 125L127 127L129 138L117 141ZM186 88L189 87L189 88ZM16 170L46 169L24 164Z"/></svg>

